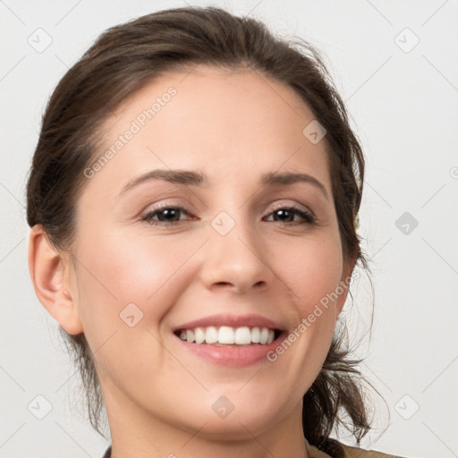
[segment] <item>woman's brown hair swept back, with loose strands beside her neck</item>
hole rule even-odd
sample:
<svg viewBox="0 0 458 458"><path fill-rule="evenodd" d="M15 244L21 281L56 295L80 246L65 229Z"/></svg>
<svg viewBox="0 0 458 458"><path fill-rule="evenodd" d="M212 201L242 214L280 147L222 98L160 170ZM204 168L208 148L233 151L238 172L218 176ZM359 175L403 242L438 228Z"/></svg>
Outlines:
<svg viewBox="0 0 458 458"><path fill-rule="evenodd" d="M327 135L324 138L344 259L368 268L356 222L364 157L318 51L301 38L276 38L265 24L216 7L183 7L150 13L106 30L66 72L46 107L27 185L28 223L43 225L59 250L77 237L75 203L96 157L98 133L124 99L164 72L213 64L251 69L295 90ZM304 126L305 127L305 126ZM99 434L104 408L98 375L83 333L68 335L86 392L89 420ZM368 408L356 365L348 360L346 327L335 335L317 379L303 396L303 431L311 445L330 451L339 424L360 439L369 431ZM351 421L338 415L345 411Z"/></svg>

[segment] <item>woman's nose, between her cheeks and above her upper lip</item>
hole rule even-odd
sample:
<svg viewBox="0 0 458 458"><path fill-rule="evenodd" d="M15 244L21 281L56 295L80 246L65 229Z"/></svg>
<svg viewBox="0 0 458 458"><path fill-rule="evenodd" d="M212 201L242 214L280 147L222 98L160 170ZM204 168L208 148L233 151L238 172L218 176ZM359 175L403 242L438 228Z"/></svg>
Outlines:
<svg viewBox="0 0 458 458"><path fill-rule="evenodd" d="M273 280L266 247L247 225L235 225L225 235L210 228L204 250L200 279L208 290L265 291Z"/></svg>

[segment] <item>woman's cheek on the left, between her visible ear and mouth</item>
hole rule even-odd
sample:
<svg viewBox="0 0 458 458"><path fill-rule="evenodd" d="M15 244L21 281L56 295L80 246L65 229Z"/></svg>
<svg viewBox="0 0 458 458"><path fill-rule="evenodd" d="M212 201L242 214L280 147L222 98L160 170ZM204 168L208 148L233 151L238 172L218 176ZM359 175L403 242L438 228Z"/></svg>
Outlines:
<svg viewBox="0 0 458 458"><path fill-rule="evenodd" d="M126 374L149 377L151 368L166 367L167 358L170 364L158 344L159 327L191 282L180 267L201 241L178 246L163 240L138 236L134 240L101 230L80 238L78 284L84 334L96 352L98 369L119 386L128 385Z"/></svg>

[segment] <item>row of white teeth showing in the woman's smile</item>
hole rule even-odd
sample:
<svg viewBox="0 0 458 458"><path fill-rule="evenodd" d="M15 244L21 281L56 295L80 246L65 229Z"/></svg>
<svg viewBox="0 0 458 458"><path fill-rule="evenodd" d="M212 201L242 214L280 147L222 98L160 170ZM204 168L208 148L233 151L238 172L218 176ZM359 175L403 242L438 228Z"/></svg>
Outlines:
<svg viewBox="0 0 458 458"><path fill-rule="evenodd" d="M267 327L196 327L180 332L180 338L190 344L272 344L275 331Z"/></svg>

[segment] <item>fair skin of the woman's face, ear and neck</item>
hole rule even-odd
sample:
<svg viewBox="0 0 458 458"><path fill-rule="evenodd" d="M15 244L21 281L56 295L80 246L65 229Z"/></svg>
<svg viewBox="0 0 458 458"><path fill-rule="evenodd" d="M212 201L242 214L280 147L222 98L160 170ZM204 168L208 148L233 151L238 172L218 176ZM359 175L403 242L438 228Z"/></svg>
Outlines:
<svg viewBox="0 0 458 458"><path fill-rule="evenodd" d="M352 272L344 262L325 141L293 89L249 69L200 65L161 76L106 120L99 157L155 98L177 94L97 174L77 201L73 263L40 226L30 233L39 301L70 334L84 332L98 370L113 457L309 456L301 401L326 358L346 290L275 362L223 367L182 349L172 328L216 313L257 313L293 330ZM96 158L97 158L96 157ZM204 186L125 183L153 169L198 170ZM310 174L323 184L262 188L267 172ZM141 219L181 206L170 228ZM317 225L278 208L311 211ZM212 220L234 222L225 236ZM156 215L156 220L163 214ZM165 219L165 218L163 218ZM143 318L120 313L135 303ZM225 419L212 404L225 395ZM172 455L171 455L172 456Z"/></svg>

